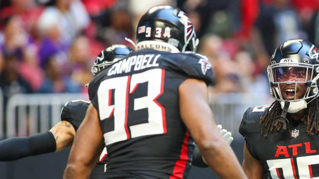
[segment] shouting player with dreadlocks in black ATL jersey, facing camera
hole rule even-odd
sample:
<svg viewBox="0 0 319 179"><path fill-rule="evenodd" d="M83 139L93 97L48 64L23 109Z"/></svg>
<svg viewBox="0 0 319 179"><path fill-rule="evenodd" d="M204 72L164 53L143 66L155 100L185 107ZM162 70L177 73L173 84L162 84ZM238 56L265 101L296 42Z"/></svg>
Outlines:
<svg viewBox="0 0 319 179"><path fill-rule="evenodd" d="M267 71L275 102L248 108L239 128L249 178L319 177L318 54L310 42L291 39L272 55Z"/></svg>

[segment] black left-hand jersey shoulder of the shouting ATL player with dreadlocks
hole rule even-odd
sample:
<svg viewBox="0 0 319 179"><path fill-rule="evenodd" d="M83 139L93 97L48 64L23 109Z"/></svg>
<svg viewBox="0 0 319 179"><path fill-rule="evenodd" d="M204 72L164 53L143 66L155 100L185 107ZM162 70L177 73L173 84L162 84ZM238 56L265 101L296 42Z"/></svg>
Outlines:
<svg viewBox="0 0 319 179"><path fill-rule="evenodd" d="M261 132L260 117L269 106L270 105L251 107L245 111L239 126L239 133L243 137L246 137L248 133Z"/></svg>

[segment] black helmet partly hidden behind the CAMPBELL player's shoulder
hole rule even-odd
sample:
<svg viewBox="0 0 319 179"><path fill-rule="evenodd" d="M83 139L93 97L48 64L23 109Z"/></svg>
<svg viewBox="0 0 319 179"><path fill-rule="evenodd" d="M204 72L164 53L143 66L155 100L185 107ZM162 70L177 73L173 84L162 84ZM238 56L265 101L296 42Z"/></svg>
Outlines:
<svg viewBox="0 0 319 179"><path fill-rule="evenodd" d="M93 76L102 71L109 65L112 65L114 62L117 62L119 59L122 59L133 51L129 46L114 44L108 48L105 48L101 53L96 57L96 60L91 68Z"/></svg>

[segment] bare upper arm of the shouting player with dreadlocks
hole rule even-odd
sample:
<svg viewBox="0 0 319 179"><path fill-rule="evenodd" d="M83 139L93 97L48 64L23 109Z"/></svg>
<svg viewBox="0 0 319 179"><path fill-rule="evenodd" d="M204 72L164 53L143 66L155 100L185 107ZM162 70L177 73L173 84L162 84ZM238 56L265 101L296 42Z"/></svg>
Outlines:
<svg viewBox="0 0 319 179"><path fill-rule="evenodd" d="M248 178L262 179L262 175L264 173L263 167L261 163L247 150L246 143L244 145L244 161L242 162L242 168Z"/></svg>

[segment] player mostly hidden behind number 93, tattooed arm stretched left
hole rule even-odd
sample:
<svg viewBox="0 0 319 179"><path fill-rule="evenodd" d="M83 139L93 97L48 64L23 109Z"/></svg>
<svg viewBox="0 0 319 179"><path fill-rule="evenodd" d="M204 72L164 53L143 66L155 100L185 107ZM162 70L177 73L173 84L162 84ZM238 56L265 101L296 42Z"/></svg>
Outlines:
<svg viewBox="0 0 319 179"><path fill-rule="evenodd" d="M110 66L118 59L125 57L132 49L125 45L112 45L105 48L97 56L92 66L93 76ZM28 137L12 137L0 142L0 161L12 161L26 156L58 152L73 143L76 131L82 123L90 102L82 100L70 101L61 111L61 122L47 132ZM90 178L103 178L106 169L106 148L103 149L99 162L91 172Z"/></svg>

